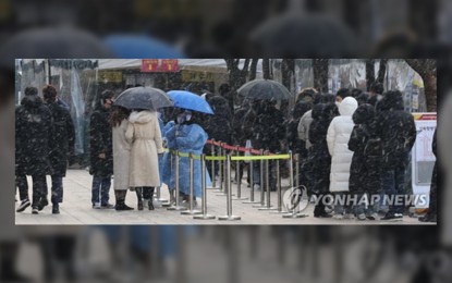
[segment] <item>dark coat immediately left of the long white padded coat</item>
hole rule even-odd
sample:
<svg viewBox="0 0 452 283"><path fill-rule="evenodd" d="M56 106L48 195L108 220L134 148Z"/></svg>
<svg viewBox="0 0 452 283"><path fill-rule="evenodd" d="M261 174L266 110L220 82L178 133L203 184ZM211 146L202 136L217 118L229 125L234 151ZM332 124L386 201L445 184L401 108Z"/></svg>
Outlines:
<svg viewBox="0 0 452 283"><path fill-rule="evenodd" d="M338 112L334 103L320 103L313 108L313 123L309 127L309 142L311 143L305 170L308 171L311 192L321 194L329 192L331 156L328 151L328 127Z"/></svg>

